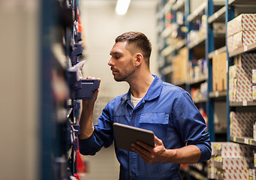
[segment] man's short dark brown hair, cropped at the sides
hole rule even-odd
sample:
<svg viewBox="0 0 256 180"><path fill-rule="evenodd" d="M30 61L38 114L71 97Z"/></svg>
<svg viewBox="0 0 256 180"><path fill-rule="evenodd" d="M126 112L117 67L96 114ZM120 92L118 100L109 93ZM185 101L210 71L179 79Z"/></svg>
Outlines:
<svg viewBox="0 0 256 180"><path fill-rule="evenodd" d="M149 66L149 58L152 51L152 45L145 34L138 31L128 31L118 37L116 37L116 43L120 41L128 41L128 45L132 44L137 49L141 49L144 58L146 58L146 64Z"/></svg>

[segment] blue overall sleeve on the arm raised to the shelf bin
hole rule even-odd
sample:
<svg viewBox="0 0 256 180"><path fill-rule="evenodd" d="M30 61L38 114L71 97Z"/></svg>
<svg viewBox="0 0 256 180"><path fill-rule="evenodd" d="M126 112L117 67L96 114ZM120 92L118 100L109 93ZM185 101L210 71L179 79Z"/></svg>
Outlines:
<svg viewBox="0 0 256 180"><path fill-rule="evenodd" d="M109 147L113 143L113 122L110 115L110 104L102 111L98 118L98 124L88 139L79 139L80 153L84 155L94 155L104 146Z"/></svg>

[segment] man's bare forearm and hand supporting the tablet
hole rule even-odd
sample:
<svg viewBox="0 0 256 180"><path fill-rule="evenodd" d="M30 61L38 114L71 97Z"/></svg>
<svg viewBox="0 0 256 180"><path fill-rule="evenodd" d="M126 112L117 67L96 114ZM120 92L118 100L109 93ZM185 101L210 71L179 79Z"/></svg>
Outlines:
<svg viewBox="0 0 256 180"><path fill-rule="evenodd" d="M200 160L200 149L196 145L182 148L166 149L161 139L155 136L155 147L152 148L143 142L132 144L133 151L137 152L146 163L197 163Z"/></svg>

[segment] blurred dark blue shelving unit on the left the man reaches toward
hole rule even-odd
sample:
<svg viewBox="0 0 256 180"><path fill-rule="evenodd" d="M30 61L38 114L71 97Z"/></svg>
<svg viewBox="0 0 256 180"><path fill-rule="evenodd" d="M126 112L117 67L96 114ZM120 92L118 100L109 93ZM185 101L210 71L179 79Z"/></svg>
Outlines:
<svg viewBox="0 0 256 180"><path fill-rule="evenodd" d="M70 68L80 62L79 55L83 52L81 32L77 29L79 0L45 0L41 1L41 9L39 174L42 180L65 180L74 178L78 172L80 98L77 89L82 82ZM83 89L83 83L81 86Z"/></svg>

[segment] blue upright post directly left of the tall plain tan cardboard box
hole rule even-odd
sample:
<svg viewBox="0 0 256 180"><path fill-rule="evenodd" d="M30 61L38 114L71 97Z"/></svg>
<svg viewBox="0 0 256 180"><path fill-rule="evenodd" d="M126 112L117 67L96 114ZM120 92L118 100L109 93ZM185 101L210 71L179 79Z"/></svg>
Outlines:
<svg viewBox="0 0 256 180"><path fill-rule="evenodd" d="M213 1L207 0L206 16L206 63L208 68L207 78L207 101L206 101L206 114L208 118L208 131L209 138L212 142L215 141L215 130L214 130L214 101L209 98L209 92L212 92L212 63L209 61L209 52L214 50L214 34L212 23L208 23L208 18L214 13Z"/></svg>

